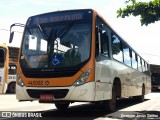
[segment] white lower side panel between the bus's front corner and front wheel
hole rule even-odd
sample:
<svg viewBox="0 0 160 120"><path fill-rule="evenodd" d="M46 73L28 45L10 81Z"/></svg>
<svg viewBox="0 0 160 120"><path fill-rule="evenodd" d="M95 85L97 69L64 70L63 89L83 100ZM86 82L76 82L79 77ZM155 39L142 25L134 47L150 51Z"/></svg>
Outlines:
<svg viewBox="0 0 160 120"><path fill-rule="evenodd" d="M101 56L103 57L103 56ZM111 99L112 81L111 81L111 60L99 61L96 63L95 82L96 95L95 101Z"/></svg>

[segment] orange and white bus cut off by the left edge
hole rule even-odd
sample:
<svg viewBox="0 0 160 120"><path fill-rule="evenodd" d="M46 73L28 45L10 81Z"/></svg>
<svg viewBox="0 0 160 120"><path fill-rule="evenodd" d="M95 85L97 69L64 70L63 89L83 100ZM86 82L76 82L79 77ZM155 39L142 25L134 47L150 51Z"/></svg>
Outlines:
<svg viewBox="0 0 160 120"><path fill-rule="evenodd" d="M9 53L5 44L0 44L0 94L6 93Z"/></svg>

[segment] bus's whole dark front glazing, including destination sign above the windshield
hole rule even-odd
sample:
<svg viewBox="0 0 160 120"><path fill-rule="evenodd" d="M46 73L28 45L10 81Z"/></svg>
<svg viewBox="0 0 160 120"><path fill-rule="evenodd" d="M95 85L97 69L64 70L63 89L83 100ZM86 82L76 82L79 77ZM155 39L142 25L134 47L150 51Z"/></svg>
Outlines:
<svg viewBox="0 0 160 120"><path fill-rule="evenodd" d="M23 71L77 71L89 60L92 11L62 13L47 13L28 19L20 56ZM46 21L42 22L44 18Z"/></svg>

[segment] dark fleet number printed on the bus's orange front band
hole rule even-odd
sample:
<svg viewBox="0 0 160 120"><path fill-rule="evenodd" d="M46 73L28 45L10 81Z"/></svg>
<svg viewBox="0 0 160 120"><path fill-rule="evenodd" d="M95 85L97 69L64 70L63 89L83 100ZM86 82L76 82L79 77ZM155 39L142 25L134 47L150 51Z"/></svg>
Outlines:
<svg viewBox="0 0 160 120"><path fill-rule="evenodd" d="M49 81L42 81L42 80L38 80L38 81L29 81L28 85L30 86L48 86L49 85Z"/></svg>

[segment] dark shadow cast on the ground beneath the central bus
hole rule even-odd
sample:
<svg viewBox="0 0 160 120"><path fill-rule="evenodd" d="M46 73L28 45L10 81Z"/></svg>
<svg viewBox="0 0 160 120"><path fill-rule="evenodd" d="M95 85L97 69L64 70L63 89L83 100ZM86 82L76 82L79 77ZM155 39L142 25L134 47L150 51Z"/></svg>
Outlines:
<svg viewBox="0 0 160 120"><path fill-rule="evenodd" d="M148 99L145 99L147 101ZM41 111L43 117L52 117L52 119L68 119L68 120L77 120L77 119L82 119L83 120L93 120L97 119L99 117L103 118L113 118L113 119L124 119L125 114L126 115L139 115L139 114L146 114L145 111L128 111L128 112L123 112L119 111L121 109L137 105L139 104L137 101L134 101L133 99L122 99L117 101L117 108L115 112L107 112L104 111L103 109L103 104L82 104L82 105L77 105L77 106L70 106L68 110L65 111L58 111L56 109L51 109L48 111ZM123 114L123 116L122 116ZM156 113L157 114L157 113ZM159 115L160 116L160 115ZM134 117L134 116L133 116ZM137 118L138 119L138 118Z"/></svg>

